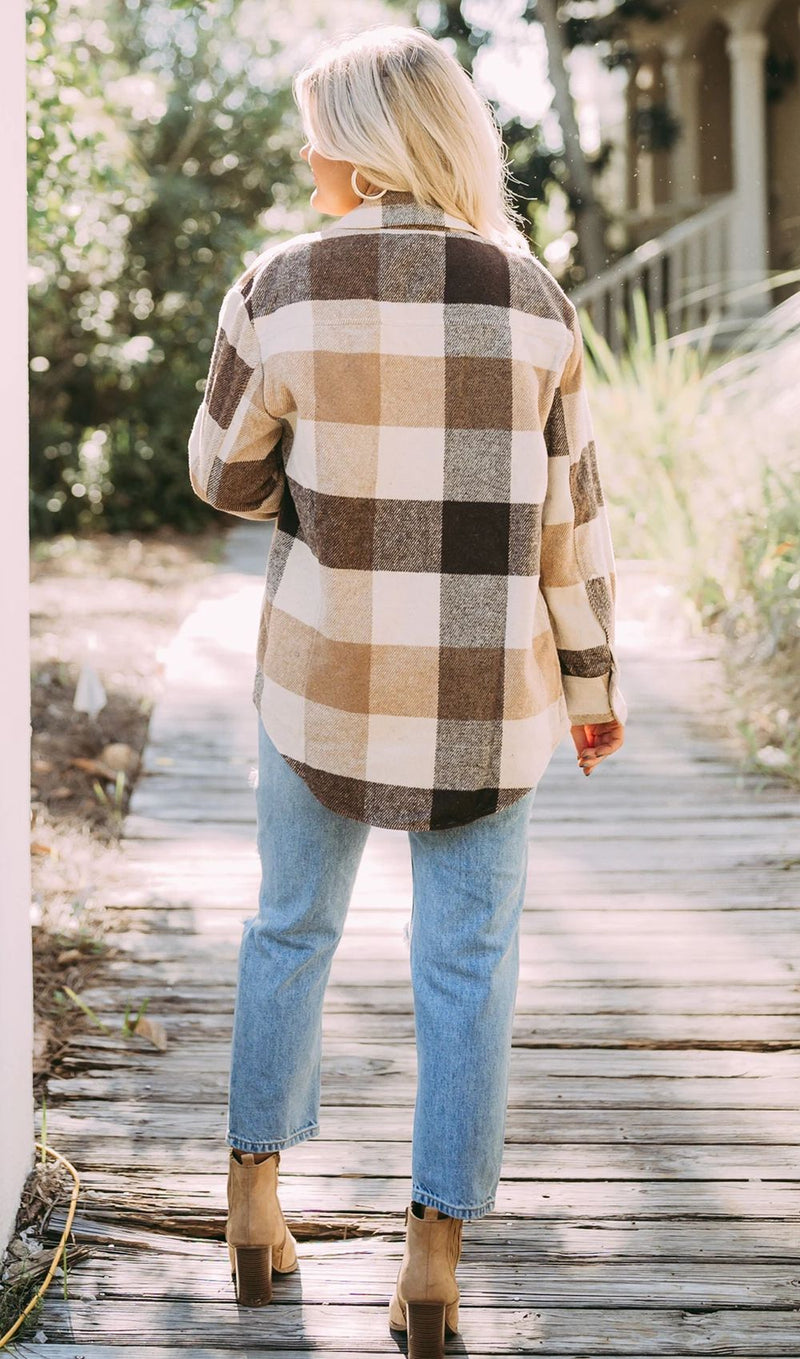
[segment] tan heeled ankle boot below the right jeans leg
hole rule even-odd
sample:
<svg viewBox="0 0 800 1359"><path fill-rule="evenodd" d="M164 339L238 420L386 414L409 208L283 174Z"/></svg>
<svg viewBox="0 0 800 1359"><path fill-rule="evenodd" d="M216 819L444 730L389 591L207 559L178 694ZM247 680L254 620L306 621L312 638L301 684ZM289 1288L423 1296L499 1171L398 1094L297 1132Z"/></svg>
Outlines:
<svg viewBox="0 0 800 1359"><path fill-rule="evenodd" d="M425 1205L417 1218L406 1208L406 1243L394 1296L388 1305L388 1325L407 1330L409 1359L440 1359L446 1326L458 1330L459 1288L455 1267L460 1260L462 1219L439 1216Z"/></svg>

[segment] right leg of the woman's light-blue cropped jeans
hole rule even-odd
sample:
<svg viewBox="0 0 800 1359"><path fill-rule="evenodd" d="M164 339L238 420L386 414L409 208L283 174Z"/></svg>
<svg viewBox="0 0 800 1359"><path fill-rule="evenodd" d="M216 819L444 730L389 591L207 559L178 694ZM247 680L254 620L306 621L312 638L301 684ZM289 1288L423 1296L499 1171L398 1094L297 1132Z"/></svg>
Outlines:
<svg viewBox="0 0 800 1359"><path fill-rule="evenodd" d="M500 1180L534 794L466 826L409 833L412 1199L452 1218L490 1212Z"/></svg>

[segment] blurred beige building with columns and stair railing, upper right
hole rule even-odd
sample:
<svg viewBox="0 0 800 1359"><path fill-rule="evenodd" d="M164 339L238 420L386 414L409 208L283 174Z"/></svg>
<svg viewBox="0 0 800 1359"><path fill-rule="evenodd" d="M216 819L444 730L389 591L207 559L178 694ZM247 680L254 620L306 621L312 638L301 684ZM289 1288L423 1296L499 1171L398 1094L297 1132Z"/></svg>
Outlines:
<svg viewBox="0 0 800 1359"><path fill-rule="evenodd" d="M672 332L714 311L736 329L799 285L778 280L800 269L800 5L676 0L626 33L628 116L611 136L629 253L576 300L610 338L637 284Z"/></svg>

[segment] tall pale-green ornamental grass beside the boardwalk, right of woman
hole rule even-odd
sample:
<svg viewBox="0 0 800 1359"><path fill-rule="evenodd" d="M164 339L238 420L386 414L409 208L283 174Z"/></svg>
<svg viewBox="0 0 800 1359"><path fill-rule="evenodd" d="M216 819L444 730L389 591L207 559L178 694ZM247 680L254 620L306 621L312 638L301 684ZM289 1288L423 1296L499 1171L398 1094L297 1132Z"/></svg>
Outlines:
<svg viewBox="0 0 800 1359"><path fill-rule="evenodd" d="M621 356L581 319L617 556L661 561L724 635L750 754L800 783L800 294L727 355L641 295Z"/></svg>

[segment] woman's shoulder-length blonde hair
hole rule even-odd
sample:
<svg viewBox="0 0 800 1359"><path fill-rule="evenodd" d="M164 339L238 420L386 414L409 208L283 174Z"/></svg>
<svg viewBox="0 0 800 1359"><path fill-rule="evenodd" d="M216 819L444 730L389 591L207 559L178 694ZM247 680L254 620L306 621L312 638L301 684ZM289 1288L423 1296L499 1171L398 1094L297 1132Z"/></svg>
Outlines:
<svg viewBox="0 0 800 1359"><path fill-rule="evenodd" d="M292 94L321 155L531 254L492 106L424 29L376 24L335 38L297 71Z"/></svg>

